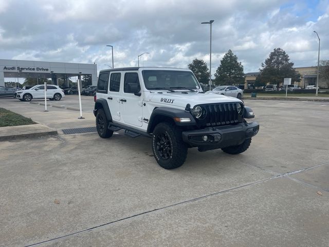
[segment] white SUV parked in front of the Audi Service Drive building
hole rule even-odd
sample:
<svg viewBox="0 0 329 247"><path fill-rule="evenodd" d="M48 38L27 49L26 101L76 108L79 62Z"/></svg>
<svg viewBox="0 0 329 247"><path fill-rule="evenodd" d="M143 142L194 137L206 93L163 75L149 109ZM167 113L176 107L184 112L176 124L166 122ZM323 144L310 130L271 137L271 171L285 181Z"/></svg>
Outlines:
<svg viewBox="0 0 329 247"><path fill-rule="evenodd" d="M64 91L57 85L47 85L46 90L47 99L50 100L61 100L65 97ZM31 101L32 99L45 98L45 86L35 85L27 90L20 90L15 92L14 98L21 101Z"/></svg>

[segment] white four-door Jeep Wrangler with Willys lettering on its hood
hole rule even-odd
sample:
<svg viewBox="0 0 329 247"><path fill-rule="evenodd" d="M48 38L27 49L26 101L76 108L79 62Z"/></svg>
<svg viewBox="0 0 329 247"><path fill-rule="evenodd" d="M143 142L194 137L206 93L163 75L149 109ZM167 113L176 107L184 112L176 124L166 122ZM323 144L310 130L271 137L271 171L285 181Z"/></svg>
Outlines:
<svg viewBox="0 0 329 247"><path fill-rule="evenodd" d="M165 169L181 166L192 147L242 153L259 130L257 122L246 122L254 115L243 101L205 94L191 70L179 68L101 70L94 114L102 138L121 129L151 137L154 157Z"/></svg>

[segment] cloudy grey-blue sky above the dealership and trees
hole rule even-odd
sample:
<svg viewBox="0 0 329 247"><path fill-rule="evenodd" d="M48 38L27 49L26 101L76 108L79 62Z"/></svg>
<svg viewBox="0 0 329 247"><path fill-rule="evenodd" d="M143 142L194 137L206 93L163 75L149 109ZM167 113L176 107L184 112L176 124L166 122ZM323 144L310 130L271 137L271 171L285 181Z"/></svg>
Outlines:
<svg viewBox="0 0 329 247"><path fill-rule="evenodd" d="M296 67L329 59L329 0L0 0L0 58L186 68L194 58L212 69L228 49L257 72L276 47Z"/></svg>

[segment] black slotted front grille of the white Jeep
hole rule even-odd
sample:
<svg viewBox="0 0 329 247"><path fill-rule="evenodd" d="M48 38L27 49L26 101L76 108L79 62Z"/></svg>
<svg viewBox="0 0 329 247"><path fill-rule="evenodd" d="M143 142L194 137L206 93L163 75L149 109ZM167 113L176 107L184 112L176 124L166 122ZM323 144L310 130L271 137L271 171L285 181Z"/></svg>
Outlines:
<svg viewBox="0 0 329 247"><path fill-rule="evenodd" d="M206 127L232 125L234 123L242 122L243 116L237 112L238 104L239 103L237 102L204 104L202 107L207 111L207 115L204 119L199 121ZM242 104L241 107L243 107Z"/></svg>

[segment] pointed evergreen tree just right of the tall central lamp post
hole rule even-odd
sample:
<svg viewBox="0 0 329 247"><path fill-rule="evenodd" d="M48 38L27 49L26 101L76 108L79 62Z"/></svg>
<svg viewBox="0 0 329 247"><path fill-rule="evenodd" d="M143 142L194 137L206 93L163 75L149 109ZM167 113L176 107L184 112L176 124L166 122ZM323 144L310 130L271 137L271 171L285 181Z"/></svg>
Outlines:
<svg viewBox="0 0 329 247"><path fill-rule="evenodd" d="M231 50L224 55L214 76L217 85L244 84L245 82L243 66Z"/></svg>

